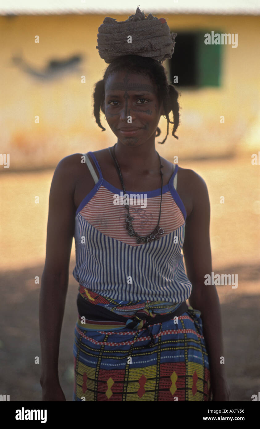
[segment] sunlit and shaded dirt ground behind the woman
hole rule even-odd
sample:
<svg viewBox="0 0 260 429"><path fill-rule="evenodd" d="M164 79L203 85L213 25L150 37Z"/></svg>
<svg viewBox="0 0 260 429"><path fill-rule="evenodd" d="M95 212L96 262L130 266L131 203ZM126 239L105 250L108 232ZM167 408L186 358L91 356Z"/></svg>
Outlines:
<svg viewBox="0 0 260 429"><path fill-rule="evenodd" d="M219 286L226 371L232 401L251 401L260 391L260 175L251 155L228 160L186 161L200 174L211 202L215 274L238 274L238 287ZM53 170L0 175L0 393L10 401L39 401L39 287L45 258L48 193ZM36 205L34 197L39 196ZM225 203L220 203L221 196ZM72 276L60 339L60 383L73 394L73 341L78 284Z"/></svg>

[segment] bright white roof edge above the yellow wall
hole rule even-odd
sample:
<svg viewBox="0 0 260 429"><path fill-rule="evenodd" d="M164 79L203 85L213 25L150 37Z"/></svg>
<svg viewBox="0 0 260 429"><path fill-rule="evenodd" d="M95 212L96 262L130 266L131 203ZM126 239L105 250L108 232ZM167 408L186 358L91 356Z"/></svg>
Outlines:
<svg viewBox="0 0 260 429"><path fill-rule="evenodd" d="M137 0L136 6L126 4L122 6L121 0L113 0L112 4L106 4L106 0L98 0L100 6L90 6L78 0L78 7L75 7L75 0L40 0L37 4L31 0L9 0L5 5L0 5L0 15L132 15L136 12L138 3L139 9L145 15L152 14L190 14L190 15L260 15L260 1L236 0L199 0L194 5L194 0L175 3L174 0L164 0L164 5L158 6L156 0ZM101 5L101 3L104 3ZM27 5L26 5L27 3Z"/></svg>

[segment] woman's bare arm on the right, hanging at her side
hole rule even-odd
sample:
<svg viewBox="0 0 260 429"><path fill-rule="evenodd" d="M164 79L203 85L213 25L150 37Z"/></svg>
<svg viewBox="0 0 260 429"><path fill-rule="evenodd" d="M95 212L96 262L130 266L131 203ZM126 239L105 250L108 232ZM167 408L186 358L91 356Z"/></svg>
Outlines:
<svg viewBox="0 0 260 429"><path fill-rule="evenodd" d="M193 285L189 298L190 305L201 311L203 335L209 354L213 400L228 401L230 392L226 381L221 311L215 285L205 285L205 275L212 273L212 257L209 238L210 203L207 186L203 178L192 170L190 175L190 193L193 209L186 219L183 254L187 276Z"/></svg>

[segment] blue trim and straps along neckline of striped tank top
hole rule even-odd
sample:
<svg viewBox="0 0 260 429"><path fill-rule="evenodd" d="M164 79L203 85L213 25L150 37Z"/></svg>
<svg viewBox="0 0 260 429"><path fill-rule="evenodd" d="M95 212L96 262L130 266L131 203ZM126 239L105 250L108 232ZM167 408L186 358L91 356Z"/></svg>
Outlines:
<svg viewBox="0 0 260 429"><path fill-rule="evenodd" d="M95 157L94 153L89 151L88 154L91 155L97 170L100 174L99 176L99 180L97 181L97 183L95 184L95 186L91 189L91 191L88 193L88 195L85 196L85 198L82 200L82 202L80 203L79 207L76 210L76 215L79 213L79 211L82 210L82 208L85 207L85 205L91 200L91 198L95 195L95 193L98 191L98 189L100 188L101 185L103 185L104 187L106 187L106 189L108 189L110 192L113 193L117 193L120 195L120 192L122 192L122 189L118 189L115 186L113 186L111 183L109 183L108 181L106 181L106 179L103 178L102 175L102 171L100 168L100 165L98 163L97 158ZM169 182L163 186L163 194L168 192L170 190L172 197L174 199L174 201L176 202L176 204L178 205L178 207L180 208L182 215L184 217L184 220L186 221L187 218L187 213L186 213L186 209L184 207L184 204L181 200L181 197L179 196L179 194L177 193L175 187L173 186L173 179L175 177L175 175L177 174L178 171L178 164L175 164L175 170L172 173ZM160 196L161 193L161 188L155 189L155 190L150 190L150 191L146 191L146 192L137 192L137 191L126 191L126 193L128 195L130 195L130 193L145 193L147 198L152 198L154 196Z"/></svg>

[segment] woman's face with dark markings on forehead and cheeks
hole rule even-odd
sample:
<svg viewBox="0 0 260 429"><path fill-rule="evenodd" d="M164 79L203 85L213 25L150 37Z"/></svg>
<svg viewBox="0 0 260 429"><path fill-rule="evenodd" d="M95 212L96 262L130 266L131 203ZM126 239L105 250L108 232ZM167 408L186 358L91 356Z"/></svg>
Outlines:
<svg viewBox="0 0 260 429"><path fill-rule="evenodd" d="M103 110L109 127L123 145L154 143L163 109L156 85L149 77L127 71L110 75Z"/></svg>

